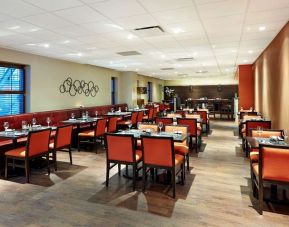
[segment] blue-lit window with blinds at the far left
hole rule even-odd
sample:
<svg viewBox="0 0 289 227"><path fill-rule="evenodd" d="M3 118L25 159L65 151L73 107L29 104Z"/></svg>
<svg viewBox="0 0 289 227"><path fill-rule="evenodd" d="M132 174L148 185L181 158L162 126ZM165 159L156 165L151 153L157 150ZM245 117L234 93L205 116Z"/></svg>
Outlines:
<svg viewBox="0 0 289 227"><path fill-rule="evenodd" d="M0 116L25 112L24 66L0 63L0 103Z"/></svg>

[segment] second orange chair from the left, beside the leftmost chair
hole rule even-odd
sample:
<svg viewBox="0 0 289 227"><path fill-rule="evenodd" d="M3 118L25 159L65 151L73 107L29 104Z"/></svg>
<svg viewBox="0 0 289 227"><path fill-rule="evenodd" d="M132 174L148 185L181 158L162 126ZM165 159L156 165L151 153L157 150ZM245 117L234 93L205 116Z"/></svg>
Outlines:
<svg viewBox="0 0 289 227"><path fill-rule="evenodd" d="M49 149L53 155L54 169L57 170L57 151L68 151L70 165L72 165L72 154L71 154L71 136L72 136L72 125L59 126L56 129L56 134L53 142L50 142Z"/></svg>

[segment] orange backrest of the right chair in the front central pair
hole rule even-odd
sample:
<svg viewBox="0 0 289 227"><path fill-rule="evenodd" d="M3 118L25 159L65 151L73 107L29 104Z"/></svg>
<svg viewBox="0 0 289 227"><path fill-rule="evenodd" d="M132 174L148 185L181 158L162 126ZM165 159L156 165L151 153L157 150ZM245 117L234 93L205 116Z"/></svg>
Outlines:
<svg viewBox="0 0 289 227"><path fill-rule="evenodd" d="M142 136L143 163L153 166L175 165L173 138Z"/></svg>

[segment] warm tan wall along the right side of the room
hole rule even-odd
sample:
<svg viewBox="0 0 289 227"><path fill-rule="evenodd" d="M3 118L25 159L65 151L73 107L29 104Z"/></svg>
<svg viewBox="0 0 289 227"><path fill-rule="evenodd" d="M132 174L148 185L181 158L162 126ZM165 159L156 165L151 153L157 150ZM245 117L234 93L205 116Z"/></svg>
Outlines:
<svg viewBox="0 0 289 227"><path fill-rule="evenodd" d="M254 64L255 108L273 128L289 129L289 23Z"/></svg>

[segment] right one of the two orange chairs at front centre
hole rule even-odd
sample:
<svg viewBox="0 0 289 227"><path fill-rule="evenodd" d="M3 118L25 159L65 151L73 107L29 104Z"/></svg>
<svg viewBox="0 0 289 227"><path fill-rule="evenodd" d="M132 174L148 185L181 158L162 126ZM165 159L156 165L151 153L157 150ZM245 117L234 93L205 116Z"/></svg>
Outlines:
<svg viewBox="0 0 289 227"><path fill-rule="evenodd" d="M175 154L171 137L142 136L143 192L146 185L147 168L166 169L172 172L173 198L176 197L176 175L181 173L184 183L184 156Z"/></svg>

